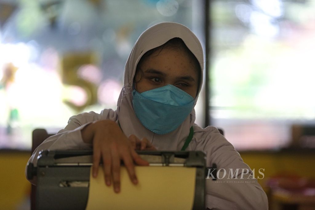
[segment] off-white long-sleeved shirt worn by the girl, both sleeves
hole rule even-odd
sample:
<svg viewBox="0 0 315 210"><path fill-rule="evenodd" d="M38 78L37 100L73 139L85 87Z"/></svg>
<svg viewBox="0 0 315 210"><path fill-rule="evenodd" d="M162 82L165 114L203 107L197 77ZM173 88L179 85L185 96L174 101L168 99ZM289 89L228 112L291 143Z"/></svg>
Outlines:
<svg viewBox="0 0 315 210"><path fill-rule="evenodd" d="M101 112L97 114L89 112L72 116L64 129L38 146L28 162L32 162L36 166L37 156L41 150L91 149L91 145L83 142L81 130L90 122L97 120L109 119L116 121L117 116L111 113ZM194 136L186 150L202 150L206 152L207 167L210 167L212 163L216 163L219 170L216 181L206 179L206 206L213 210L268 209L266 193L257 182L257 179L252 179L253 176L249 176L252 170L243 162L239 153L224 136L215 127L200 128L194 124L193 128ZM129 133L125 134L129 135ZM139 136L139 138L142 138L142 136ZM149 140L159 150L180 150L182 147L182 141L178 143L176 148L172 144L170 144L169 148L166 148L164 144L154 141L154 136ZM247 170L248 173L246 173ZM242 171L244 171L243 175ZM258 169L256 169L255 173L255 176L257 176ZM209 174L209 178L211 178L211 174ZM34 182L34 180L30 181Z"/></svg>

